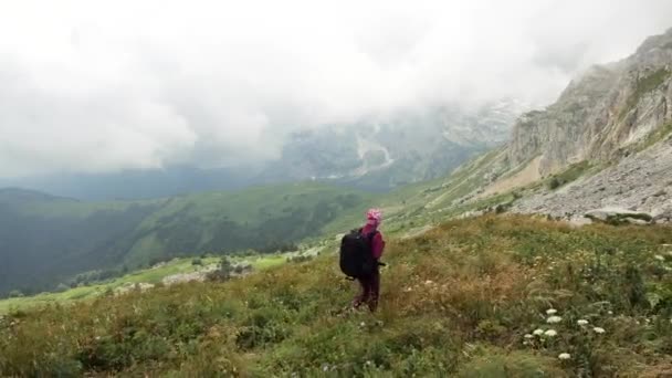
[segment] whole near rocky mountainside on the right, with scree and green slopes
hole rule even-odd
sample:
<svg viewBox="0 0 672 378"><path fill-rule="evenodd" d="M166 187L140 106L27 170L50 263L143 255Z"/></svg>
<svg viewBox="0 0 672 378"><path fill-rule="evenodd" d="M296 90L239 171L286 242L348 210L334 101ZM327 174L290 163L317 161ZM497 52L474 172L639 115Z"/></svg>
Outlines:
<svg viewBox="0 0 672 378"><path fill-rule="evenodd" d="M558 101L522 115L511 141L432 188L426 211L483 203L585 220L591 212L672 220L672 30L592 66ZM456 178L460 178L458 180Z"/></svg>

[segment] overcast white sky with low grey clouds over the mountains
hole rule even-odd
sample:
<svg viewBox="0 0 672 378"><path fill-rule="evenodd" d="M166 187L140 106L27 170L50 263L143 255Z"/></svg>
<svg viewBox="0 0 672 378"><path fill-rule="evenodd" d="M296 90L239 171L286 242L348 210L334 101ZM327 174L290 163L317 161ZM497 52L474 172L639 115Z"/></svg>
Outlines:
<svg viewBox="0 0 672 378"><path fill-rule="evenodd" d="M0 177L217 166L371 114L543 106L670 27L670 0L3 1Z"/></svg>

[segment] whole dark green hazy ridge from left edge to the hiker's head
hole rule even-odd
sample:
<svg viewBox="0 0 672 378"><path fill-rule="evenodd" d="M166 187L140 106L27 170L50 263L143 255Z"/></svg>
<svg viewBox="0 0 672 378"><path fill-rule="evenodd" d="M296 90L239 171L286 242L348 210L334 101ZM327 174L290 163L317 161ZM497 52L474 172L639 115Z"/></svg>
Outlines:
<svg viewBox="0 0 672 378"><path fill-rule="evenodd" d="M366 201L368 195L318 183L112 202L3 189L0 294L53 290L77 273L174 256L275 251L359 214Z"/></svg>

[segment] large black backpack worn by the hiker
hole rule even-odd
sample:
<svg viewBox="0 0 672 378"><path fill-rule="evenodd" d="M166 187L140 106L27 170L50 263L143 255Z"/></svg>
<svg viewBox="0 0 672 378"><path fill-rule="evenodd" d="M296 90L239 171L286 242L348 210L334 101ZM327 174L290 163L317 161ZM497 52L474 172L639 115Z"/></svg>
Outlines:
<svg viewBox="0 0 672 378"><path fill-rule="evenodd" d="M358 279L371 275L378 267L374 259L371 242L378 231L368 235L361 229L353 230L340 240L340 271L348 277Z"/></svg>

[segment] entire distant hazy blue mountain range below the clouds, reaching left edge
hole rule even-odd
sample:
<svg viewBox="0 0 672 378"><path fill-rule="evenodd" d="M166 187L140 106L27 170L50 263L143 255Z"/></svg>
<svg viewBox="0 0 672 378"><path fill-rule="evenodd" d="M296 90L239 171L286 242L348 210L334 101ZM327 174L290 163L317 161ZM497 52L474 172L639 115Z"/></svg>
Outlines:
<svg viewBox="0 0 672 378"><path fill-rule="evenodd" d="M212 190L306 180L365 190L390 190L447 175L469 158L507 140L527 106L502 99L482 106L441 106L385 118L292 134L279 159L203 169L171 166L109 174L54 174L0 179L82 200L154 199Z"/></svg>

